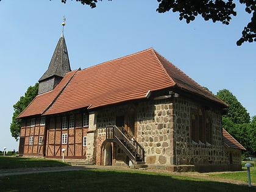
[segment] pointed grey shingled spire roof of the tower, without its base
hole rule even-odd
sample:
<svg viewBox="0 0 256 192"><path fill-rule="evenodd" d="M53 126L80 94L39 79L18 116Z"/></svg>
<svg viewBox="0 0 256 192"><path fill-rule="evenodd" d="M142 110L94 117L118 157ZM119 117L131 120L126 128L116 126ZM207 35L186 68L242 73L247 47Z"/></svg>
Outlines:
<svg viewBox="0 0 256 192"><path fill-rule="evenodd" d="M38 81L48 79L52 76L64 77L69 71L71 71L71 69L68 59L68 49L66 48L66 41L62 34L54 50L47 71Z"/></svg>

